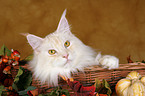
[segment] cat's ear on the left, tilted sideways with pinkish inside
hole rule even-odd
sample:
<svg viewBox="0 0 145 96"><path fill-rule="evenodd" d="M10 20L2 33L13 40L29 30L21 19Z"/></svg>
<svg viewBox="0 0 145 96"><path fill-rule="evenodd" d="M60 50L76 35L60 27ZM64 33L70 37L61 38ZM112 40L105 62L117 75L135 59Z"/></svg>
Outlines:
<svg viewBox="0 0 145 96"><path fill-rule="evenodd" d="M28 43L31 45L31 47L33 48L33 50L37 51L37 48L40 46L40 44L43 41L43 38L40 38L38 36L32 35L32 34L27 34L25 35Z"/></svg>

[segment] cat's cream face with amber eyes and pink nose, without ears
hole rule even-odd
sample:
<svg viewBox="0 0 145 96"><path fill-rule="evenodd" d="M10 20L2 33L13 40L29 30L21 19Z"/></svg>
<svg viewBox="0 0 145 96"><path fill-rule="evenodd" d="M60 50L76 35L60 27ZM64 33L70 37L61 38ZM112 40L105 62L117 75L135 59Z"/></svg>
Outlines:
<svg viewBox="0 0 145 96"><path fill-rule="evenodd" d="M73 67L81 52L82 42L73 34L54 32L46 36L39 46L38 54L53 67Z"/></svg>

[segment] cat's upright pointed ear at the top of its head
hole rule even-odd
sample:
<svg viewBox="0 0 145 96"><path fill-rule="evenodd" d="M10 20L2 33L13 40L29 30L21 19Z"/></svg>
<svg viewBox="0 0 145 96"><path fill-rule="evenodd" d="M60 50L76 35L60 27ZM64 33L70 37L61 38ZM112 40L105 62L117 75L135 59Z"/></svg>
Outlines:
<svg viewBox="0 0 145 96"><path fill-rule="evenodd" d="M59 21L58 27L57 27L57 32L69 32L70 31L70 26L68 24L68 21L65 17L66 15L66 9L64 10L61 19Z"/></svg>

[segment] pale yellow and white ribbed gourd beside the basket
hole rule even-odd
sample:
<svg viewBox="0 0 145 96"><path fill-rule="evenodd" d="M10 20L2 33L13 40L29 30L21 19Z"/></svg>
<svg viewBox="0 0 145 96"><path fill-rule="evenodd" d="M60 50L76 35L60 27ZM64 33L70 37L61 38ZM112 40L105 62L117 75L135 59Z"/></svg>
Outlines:
<svg viewBox="0 0 145 96"><path fill-rule="evenodd" d="M117 96L145 96L145 76L132 71L117 82L115 90Z"/></svg>

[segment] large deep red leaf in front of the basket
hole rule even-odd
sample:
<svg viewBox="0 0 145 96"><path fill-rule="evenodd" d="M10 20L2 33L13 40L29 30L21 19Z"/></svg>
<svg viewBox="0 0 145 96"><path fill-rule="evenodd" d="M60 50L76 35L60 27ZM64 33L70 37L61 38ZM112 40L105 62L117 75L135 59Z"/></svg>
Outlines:
<svg viewBox="0 0 145 96"><path fill-rule="evenodd" d="M96 89L94 86L84 87L79 81L70 81L69 79L68 85L76 93L76 96L93 96Z"/></svg>

